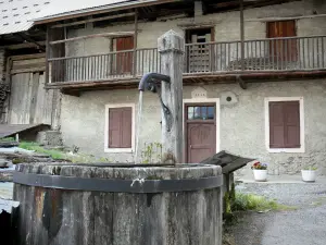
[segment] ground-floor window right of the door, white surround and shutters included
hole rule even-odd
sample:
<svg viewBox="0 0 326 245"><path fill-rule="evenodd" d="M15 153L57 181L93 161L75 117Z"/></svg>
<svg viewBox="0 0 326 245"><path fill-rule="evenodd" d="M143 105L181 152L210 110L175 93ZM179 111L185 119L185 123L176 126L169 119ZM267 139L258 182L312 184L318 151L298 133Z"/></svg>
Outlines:
<svg viewBox="0 0 326 245"><path fill-rule="evenodd" d="M266 146L271 152L304 152L302 98L267 98Z"/></svg>

